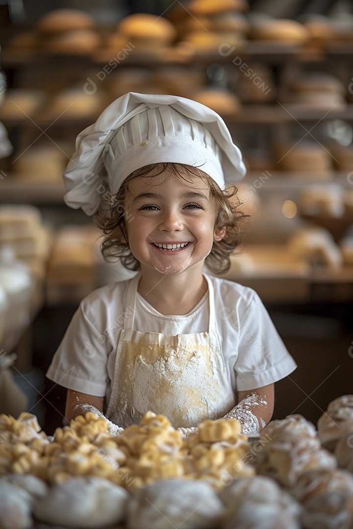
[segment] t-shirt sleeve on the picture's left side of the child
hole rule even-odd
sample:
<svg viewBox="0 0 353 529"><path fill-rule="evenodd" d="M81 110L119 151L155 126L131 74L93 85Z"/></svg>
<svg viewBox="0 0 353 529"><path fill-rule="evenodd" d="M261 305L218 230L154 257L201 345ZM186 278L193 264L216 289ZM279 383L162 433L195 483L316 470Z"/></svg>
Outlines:
<svg viewBox="0 0 353 529"><path fill-rule="evenodd" d="M94 318L88 317L80 304L55 352L47 377L60 386L74 391L103 397L106 393L108 372L108 343L100 340Z"/></svg>

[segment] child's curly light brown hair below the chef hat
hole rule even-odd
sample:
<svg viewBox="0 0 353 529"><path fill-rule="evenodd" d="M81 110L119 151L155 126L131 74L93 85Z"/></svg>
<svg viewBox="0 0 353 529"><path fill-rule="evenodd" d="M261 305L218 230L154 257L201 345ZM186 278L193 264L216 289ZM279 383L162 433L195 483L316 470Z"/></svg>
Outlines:
<svg viewBox="0 0 353 529"><path fill-rule="evenodd" d="M153 171L153 173L152 173ZM231 185L225 190L221 190L215 181L197 167L187 166L180 163L153 163L133 171L121 185L115 195L107 197L101 203L98 211L94 215L97 227L102 230L104 237L102 243L102 254L106 261L120 259L125 268L129 270L139 270L140 263L133 256L129 248L127 239L126 223L129 223L128 213L125 208L125 199L129 193L129 183L137 177L151 178L168 172L182 180L186 185L192 185L192 180L188 180L187 174L200 178L209 186L210 195L214 199L216 207L215 227L225 234L220 241L215 241L211 252L206 257L207 268L214 273L224 273L230 268L230 255L238 247L241 235L245 231L245 213L239 211L241 202L237 196L237 187ZM122 239L125 242L122 242Z"/></svg>

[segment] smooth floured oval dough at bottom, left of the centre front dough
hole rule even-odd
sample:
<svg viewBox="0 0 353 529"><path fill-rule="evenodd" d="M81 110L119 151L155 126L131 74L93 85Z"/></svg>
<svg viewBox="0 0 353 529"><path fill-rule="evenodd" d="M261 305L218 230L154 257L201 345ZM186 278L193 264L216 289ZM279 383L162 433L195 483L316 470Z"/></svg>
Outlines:
<svg viewBox="0 0 353 529"><path fill-rule="evenodd" d="M123 487L96 477L69 479L54 485L34 505L42 522L69 527L102 527L125 518L129 497Z"/></svg>

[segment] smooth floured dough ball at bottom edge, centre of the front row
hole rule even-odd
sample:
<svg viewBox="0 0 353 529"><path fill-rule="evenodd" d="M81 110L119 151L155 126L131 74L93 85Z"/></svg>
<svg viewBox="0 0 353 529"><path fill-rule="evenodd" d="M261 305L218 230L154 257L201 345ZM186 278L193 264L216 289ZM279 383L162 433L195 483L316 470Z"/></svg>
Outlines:
<svg viewBox="0 0 353 529"><path fill-rule="evenodd" d="M135 492L128 505L129 529L206 529L219 525L224 506L199 480L166 479Z"/></svg>

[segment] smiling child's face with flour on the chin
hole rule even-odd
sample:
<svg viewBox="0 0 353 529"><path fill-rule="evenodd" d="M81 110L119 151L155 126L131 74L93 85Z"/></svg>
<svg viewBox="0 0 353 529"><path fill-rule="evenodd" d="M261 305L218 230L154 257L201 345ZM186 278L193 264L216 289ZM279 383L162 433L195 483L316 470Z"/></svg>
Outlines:
<svg viewBox="0 0 353 529"><path fill-rule="evenodd" d="M169 173L130 181L125 199L129 247L141 269L178 273L202 270L215 240L216 209L209 186L185 174L191 184Z"/></svg>

